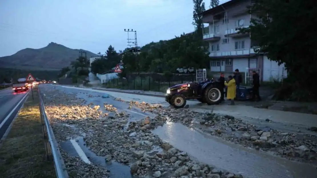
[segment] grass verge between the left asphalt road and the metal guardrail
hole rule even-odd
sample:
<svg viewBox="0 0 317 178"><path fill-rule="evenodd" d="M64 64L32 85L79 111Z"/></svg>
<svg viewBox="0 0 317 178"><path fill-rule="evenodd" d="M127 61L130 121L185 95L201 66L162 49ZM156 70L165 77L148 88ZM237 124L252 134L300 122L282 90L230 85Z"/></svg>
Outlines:
<svg viewBox="0 0 317 178"><path fill-rule="evenodd" d="M39 97L34 89L13 121L0 148L1 178L53 178L53 162L45 160L45 147L39 110Z"/></svg>

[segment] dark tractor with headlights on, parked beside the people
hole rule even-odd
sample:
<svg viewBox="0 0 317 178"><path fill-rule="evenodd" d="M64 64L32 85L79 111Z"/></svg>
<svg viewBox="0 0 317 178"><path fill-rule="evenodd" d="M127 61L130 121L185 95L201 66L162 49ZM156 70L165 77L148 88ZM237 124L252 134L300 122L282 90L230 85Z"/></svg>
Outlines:
<svg viewBox="0 0 317 178"><path fill-rule="evenodd" d="M222 101L221 90L223 90L221 84L213 79L199 83L182 83L167 89L165 101L175 108L184 107L188 99L197 99L208 105L216 105Z"/></svg>

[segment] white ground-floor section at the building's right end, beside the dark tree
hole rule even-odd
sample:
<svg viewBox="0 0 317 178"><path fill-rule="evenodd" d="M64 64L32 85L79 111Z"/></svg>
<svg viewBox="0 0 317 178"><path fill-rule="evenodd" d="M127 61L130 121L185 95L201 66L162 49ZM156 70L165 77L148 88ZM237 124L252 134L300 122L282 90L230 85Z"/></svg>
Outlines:
<svg viewBox="0 0 317 178"><path fill-rule="evenodd" d="M263 58L263 81L269 82L273 80L280 81L282 78L287 77L284 64L278 65L277 62L271 61L267 56Z"/></svg>

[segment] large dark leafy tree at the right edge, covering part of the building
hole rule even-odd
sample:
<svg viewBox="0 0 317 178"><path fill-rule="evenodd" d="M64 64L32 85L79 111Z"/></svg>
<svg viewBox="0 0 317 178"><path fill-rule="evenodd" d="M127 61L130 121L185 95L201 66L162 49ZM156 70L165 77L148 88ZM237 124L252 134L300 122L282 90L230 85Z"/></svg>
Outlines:
<svg viewBox="0 0 317 178"><path fill-rule="evenodd" d="M288 79L284 80L280 93L282 99L317 100L317 36L313 21L317 16L315 0L305 1L257 0L249 7L256 17L248 29L251 40L260 46L259 53L285 64ZM296 13L294 13L296 12Z"/></svg>

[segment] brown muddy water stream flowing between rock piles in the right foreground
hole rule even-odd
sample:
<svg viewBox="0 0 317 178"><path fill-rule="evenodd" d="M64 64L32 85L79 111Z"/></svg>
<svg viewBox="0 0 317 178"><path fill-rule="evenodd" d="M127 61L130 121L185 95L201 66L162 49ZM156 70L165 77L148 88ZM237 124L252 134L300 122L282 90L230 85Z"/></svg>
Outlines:
<svg viewBox="0 0 317 178"><path fill-rule="evenodd" d="M190 129L180 123L167 123L152 131L198 161L242 174L249 178L315 178L317 169L256 150L227 143Z"/></svg>

